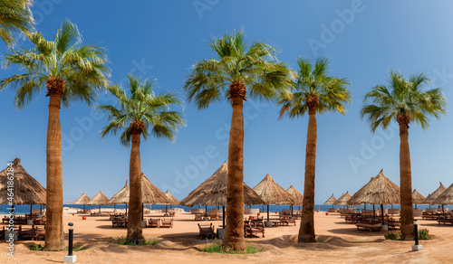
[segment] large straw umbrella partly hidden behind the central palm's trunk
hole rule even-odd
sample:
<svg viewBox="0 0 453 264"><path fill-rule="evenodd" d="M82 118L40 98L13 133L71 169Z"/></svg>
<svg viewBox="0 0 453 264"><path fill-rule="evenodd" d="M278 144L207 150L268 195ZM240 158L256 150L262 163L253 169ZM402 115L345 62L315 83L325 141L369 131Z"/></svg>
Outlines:
<svg viewBox="0 0 453 264"><path fill-rule="evenodd" d="M223 225L225 226L225 205L226 205L226 185L228 177L228 165L224 162L218 170L206 181L199 184L188 197L179 202L179 205L192 207L199 205L221 205L223 207ZM244 204L264 204L265 202L255 191L244 184Z"/></svg>

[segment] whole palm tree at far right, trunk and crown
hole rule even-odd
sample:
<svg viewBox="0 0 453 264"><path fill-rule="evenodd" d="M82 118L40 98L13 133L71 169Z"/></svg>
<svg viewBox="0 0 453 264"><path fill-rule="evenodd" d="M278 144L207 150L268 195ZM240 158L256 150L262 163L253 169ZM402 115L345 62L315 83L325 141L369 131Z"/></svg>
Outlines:
<svg viewBox="0 0 453 264"><path fill-rule="evenodd" d="M392 120L400 126L400 189L402 238L413 237L412 178L410 172L409 125L418 123L423 129L429 127L429 116L440 118L446 114L442 89L424 91L430 81L423 74L415 74L406 80L399 72L390 71L388 86L376 85L365 95L363 102L372 104L361 108L361 118L370 123L371 131L386 129Z"/></svg>

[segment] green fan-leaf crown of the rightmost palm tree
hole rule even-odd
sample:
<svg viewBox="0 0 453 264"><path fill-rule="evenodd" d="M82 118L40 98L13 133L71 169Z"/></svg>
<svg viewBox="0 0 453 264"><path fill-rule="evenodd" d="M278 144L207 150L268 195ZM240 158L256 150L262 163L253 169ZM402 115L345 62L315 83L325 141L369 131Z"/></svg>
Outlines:
<svg viewBox="0 0 453 264"><path fill-rule="evenodd" d="M364 102L372 104L361 109L361 118L367 118L371 130L387 128L392 119L408 125L415 122L423 129L429 127L428 116L440 118L446 114L446 102L441 88L423 91L430 80L423 74L415 74L406 80L399 72L390 71L389 85L377 85L365 95Z"/></svg>

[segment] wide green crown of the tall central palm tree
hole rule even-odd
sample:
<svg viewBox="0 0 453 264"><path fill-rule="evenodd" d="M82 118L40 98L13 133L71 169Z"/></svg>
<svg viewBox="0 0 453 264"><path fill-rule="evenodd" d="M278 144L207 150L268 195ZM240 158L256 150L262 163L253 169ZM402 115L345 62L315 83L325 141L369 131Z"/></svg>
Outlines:
<svg viewBox="0 0 453 264"><path fill-rule="evenodd" d="M274 99L290 82L291 71L275 61L275 49L264 42L247 45L242 31L214 38L209 47L217 53L217 60L195 63L184 86L188 100L194 100L198 108L207 108L222 96L246 99L246 88L252 98Z"/></svg>

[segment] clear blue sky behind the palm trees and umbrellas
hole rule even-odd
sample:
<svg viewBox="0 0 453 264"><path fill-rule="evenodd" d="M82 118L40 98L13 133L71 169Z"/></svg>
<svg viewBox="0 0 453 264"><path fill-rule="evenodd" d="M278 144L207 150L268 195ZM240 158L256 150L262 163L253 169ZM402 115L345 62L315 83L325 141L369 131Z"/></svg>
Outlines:
<svg viewBox="0 0 453 264"><path fill-rule="evenodd" d="M299 56L331 60L331 73L352 83L352 105L345 117L318 116L315 203L334 193L355 193L384 169L399 180L398 129L370 128L359 117L363 94L385 84L390 69L409 76L425 72L432 87L453 94L453 4L448 1L34 1L37 29L53 38L57 25L69 18L84 42L100 42L108 50L111 82L123 83L128 73L155 80L156 91L182 87L189 67L214 56L211 36L243 29L250 42L275 45L278 59L295 69ZM19 44L28 45L26 42ZM0 47L5 52L5 46ZM15 74L14 67L0 78ZM25 169L45 186L45 138L48 98L39 95L23 110L13 106L14 91L0 92L2 151L6 163L19 156ZM104 93L100 104L111 103ZM245 182L251 187L271 174L285 189L304 190L304 153L308 118L278 120L272 102L246 102ZM142 141L141 166L162 191L184 198L227 159L231 108L217 103L199 111L185 106L187 127L176 142ZM129 178L130 149L118 137L100 139L107 119L82 103L61 112L63 192L73 200L100 190L111 197ZM433 120L428 130L410 127L412 185L433 192L439 181L451 184L453 153L451 118ZM1 166L0 166L1 167Z"/></svg>

